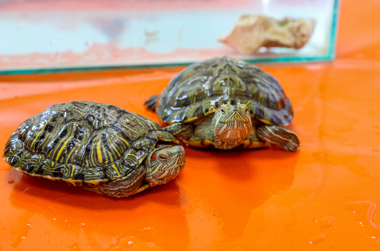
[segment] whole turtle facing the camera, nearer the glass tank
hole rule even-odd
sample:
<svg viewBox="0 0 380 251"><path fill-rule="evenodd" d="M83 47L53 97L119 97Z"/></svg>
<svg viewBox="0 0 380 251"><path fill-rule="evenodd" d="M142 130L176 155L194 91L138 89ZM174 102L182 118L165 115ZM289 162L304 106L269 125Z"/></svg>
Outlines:
<svg viewBox="0 0 380 251"><path fill-rule="evenodd" d="M145 105L171 124L164 128L196 147L231 149L279 145L296 151L297 135L282 127L293 108L279 82L238 59L213 58L178 73Z"/></svg>

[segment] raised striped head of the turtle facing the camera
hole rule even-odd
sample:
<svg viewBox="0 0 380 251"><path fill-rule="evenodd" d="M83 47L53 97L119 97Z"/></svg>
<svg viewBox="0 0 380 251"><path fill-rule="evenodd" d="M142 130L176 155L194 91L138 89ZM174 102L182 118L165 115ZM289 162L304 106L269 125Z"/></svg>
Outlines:
<svg viewBox="0 0 380 251"><path fill-rule="evenodd" d="M215 147L231 149L251 133L251 115L245 104L224 104L215 112L211 127L215 142L218 142Z"/></svg>

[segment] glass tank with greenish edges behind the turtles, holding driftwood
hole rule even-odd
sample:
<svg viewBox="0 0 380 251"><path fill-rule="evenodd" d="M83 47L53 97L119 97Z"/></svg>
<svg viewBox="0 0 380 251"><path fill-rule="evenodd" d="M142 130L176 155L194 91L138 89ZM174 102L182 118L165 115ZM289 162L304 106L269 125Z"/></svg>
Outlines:
<svg viewBox="0 0 380 251"><path fill-rule="evenodd" d="M0 74L331 60L338 2L3 0Z"/></svg>

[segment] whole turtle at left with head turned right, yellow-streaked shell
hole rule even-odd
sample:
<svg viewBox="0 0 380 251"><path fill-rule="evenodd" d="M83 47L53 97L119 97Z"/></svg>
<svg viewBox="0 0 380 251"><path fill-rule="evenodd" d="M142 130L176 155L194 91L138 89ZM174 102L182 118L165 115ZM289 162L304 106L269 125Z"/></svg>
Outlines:
<svg viewBox="0 0 380 251"><path fill-rule="evenodd" d="M129 196L174 179L184 149L159 124L112 105L54 104L8 140L4 159L18 171L108 196Z"/></svg>

